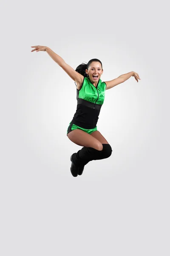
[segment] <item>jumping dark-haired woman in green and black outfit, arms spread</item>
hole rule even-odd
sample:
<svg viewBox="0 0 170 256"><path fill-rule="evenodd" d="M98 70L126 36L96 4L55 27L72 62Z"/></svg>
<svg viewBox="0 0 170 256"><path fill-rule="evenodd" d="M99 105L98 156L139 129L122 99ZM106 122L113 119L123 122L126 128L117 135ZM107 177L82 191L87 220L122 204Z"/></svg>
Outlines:
<svg viewBox="0 0 170 256"><path fill-rule="evenodd" d="M92 160L111 156L112 148L108 141L97 131L97 120L105 99L105 90L121 84L131 76L138 82L139 75L129 72L111 81L102 82L102 62L92 59L88 64L80 64L76 70L53 52L49 47L31 46L31 52L46 51L48 55L74 80L77 86L77 111L67 130L68 138L83 148L71 155L71 174L82 175L84 166Z"/></svg>

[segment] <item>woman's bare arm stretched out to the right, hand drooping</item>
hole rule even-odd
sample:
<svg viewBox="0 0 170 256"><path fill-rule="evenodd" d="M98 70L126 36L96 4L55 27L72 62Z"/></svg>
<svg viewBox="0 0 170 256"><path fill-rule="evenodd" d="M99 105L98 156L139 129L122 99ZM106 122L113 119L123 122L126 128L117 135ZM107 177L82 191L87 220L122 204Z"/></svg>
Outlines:
<svg viewBox="0 0 170 256"><path fill-rule="evenodd" d="M111 81L106 81L105 82L106 83L106 90L111 89L112 87L125 82L131 76L134 76L134 78L136 79L137 82L138 82L138 79L141 80L139 75L132 71L132 72L129 72L127 74L123 74L123 75L119 76L118 78L113 79Z"/></svg>

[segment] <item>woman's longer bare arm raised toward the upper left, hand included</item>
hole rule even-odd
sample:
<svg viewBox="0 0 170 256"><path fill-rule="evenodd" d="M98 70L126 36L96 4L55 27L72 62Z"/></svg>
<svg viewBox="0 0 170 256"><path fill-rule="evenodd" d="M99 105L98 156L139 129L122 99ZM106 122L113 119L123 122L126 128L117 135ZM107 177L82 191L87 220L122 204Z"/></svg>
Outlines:
<svg viewBox="0 0 170 256"><path fill-rule="evenodd" d="M77 84L82 84L84 76L75 71L72 67L70 67L65 61L55 52L53 52L49 47L46 46L31 46L33 49L31 52L47 52L48 55L60 66L62 69L70 76Z"/></svg>

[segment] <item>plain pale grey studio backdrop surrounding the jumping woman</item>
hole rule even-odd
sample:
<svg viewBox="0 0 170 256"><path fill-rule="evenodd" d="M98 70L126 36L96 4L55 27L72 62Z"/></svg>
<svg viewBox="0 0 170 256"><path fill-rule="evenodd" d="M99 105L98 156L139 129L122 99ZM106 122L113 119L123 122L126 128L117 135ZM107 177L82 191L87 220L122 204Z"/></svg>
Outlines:
<svg viewBox="0 0 170 256"><path fill-rule="evenodd" d="M170 255L169 45L165 1L21 1L1 6L1 256ZM71 67L99 58L98 130L108 159L70 172Z"/></svg>

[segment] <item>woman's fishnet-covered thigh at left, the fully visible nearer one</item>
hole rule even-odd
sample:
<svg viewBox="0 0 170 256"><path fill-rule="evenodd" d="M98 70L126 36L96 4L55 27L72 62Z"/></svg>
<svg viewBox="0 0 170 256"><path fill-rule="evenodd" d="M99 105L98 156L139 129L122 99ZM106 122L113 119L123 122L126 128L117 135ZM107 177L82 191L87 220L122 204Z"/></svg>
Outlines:
<svg viewBox="0 0 170 256"><path fill-rule="evenodd" d="M67 136L69 140L79 146L91 147L99 151L103 149L103 145L99 140L97 140L94 136L91 136L91 134L88 134L80 129L69 132Z"/></svg>

